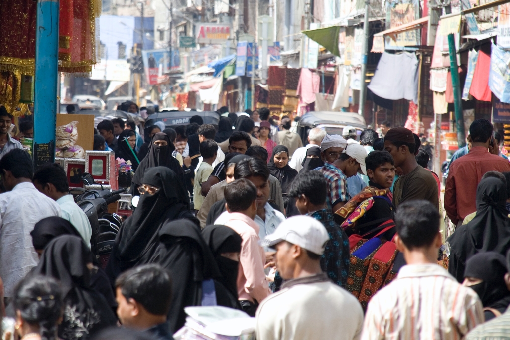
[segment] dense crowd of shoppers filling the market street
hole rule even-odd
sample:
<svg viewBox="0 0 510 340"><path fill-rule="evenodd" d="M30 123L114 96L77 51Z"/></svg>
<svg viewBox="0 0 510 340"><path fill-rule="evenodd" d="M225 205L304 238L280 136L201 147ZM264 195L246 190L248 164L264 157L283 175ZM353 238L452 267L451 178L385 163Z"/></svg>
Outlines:
<svg viewBox="0 0 510 340"><path fill-rule="evenodd" d="M409 129L313 128L303 146L268 109L235 116L143 138L130 122L98 124L94 145L136 165L140 196L105 268L64 169L34 172L0 145L5 333L102 340L120 323L172 339L185 307L225 306L256 318L258 340L510 336L510 162L489 121L449 164L443 211Z"/></svg>

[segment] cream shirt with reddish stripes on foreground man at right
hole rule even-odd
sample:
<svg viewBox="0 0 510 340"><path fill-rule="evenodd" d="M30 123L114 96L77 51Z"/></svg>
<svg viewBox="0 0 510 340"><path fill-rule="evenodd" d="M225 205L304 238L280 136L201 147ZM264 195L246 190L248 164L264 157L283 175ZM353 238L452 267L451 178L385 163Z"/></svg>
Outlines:
<svg viewBox="0 0 510 340"><path fill-rule="evenodd" d="M460 340L483 321L478 295L445 269L407 265L368 303L361 340Z"/></svg>

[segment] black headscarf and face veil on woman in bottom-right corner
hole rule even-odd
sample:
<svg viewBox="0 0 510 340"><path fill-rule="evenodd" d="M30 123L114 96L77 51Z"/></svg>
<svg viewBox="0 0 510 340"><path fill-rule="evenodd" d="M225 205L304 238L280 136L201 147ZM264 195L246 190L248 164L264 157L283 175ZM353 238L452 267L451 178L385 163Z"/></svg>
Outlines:
<svg viewBox="0 0 510 340"><path fill-rule="evenodd" d="M466 262L464 277L482 279L479 284L470 286L481 300L483 307L498 309L501 313L510 303L510 292L506 288L505 257L494 251L479 252ZM489 316L493 315L492 313ZM486 320L487 321L487 320Z"/></svg>

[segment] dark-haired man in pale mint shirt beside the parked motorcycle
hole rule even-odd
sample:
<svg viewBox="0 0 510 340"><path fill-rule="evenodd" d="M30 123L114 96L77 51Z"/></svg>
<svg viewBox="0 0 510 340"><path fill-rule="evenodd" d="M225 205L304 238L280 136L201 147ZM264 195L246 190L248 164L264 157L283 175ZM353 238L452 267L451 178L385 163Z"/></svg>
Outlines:
<svg viewBox="0 0 510 340"><path fill-rule="evenodd" d="M74 203L69 194L69 183L64 169L57 163L43 164L34 174L32 181L40 192L56 201L62 210L62 217L74 226L90 247L92 227L83 210Z"/></svg>

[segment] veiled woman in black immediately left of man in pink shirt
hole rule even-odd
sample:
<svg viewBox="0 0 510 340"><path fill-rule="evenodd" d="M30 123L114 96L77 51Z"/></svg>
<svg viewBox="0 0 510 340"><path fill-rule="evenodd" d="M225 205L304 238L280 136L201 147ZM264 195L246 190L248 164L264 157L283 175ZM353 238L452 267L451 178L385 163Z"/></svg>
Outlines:
<svg viewBox="0 0 510 340"><path fill-rule="evenodd" d="M242 310L237 292L239 253L243 241L241 236L232 228L220 224L206 226L202 230L202 236L221 272L221 277L215 282L218 305Z"/></svg>

